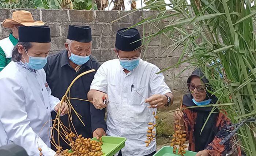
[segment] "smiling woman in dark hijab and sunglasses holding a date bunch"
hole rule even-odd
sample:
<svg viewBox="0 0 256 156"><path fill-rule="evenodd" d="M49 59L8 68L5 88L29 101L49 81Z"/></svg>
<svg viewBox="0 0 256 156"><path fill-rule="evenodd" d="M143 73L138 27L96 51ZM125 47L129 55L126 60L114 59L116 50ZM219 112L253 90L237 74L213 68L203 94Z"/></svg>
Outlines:
<svg viewBox="0 0 256 156"><path fill-rule="evenodd" d="M193 71L187 80L189 92L183 96L182 107L215 104L218 99L207 92L207 89L211 90L210 86L207 86L208 83L200 69ZM201 107L174 112L174 119L180 120L184 125L183 129L187 131L189 151L198 152L196 156L237 156L237 148L233 146L231 139L223 145L219 144L229 135L225 128L231 125L230 120L223 113L215 110L201 133L211 110L212 107Z"/></svg>

